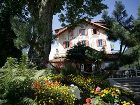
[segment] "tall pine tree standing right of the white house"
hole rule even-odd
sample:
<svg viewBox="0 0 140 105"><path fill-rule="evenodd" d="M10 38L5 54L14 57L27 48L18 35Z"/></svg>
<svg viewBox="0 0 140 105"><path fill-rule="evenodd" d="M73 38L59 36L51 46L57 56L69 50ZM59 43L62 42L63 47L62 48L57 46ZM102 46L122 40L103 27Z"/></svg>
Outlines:
<svg viewBox="0 0 140 105"><path fill-rule="evenodd" d="M136 45L136 38L132 34L134 28L133 25L133 16L128 16L125 6L121 1L116 1L115 10L113 11L113 16L108 16L107 12L104 12L103 19L107 24L107 27L110 29L108 31L108 37L112 41L120 41L120 50L119 50L119 65L120 61L124 59L123 55L127 48L133 47Z"/></svg>

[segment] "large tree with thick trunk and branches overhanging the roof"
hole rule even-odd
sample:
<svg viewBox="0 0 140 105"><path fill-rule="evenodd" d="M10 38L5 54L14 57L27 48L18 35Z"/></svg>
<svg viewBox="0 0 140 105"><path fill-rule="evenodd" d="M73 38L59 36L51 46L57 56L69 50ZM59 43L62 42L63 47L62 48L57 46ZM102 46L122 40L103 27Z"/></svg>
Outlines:
<svg viewBox="0 0 140 105"><path fill-rule="evenodd" d="M60 13L62 23L73 24L80 19L90 19L107 6L102 0L27 0L33 20L29 58L37 54L38 66L44 68L49 61L52 40L52 19Z"/></svg>

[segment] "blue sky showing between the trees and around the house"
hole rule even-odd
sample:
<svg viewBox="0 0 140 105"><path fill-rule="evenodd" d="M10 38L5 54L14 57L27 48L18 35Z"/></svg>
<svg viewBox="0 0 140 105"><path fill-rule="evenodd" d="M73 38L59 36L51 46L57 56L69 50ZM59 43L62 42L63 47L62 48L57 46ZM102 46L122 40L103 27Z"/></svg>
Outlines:
<svg viewBox="0 0 140 105"><path fill-rule="evenodd" d="M114 5L115 5L115 1L122 1L122 3L125 5L125 9L128 13L128 15L132 15L135 19L138 16L138 7L140 6L140 0L104 0L103 3L106 4L108 6L108 12L111 15L112 11L114 10ZM61 28L61 23L58 20L58 15L55 15L53 17L53 30ZM94 17L93 21L98 21L101 20L101 14ZM119 49L119 42L116 42L114 44L115 46L115 50ZM55 54L56 51L56 44L52 45L52 50L50 53L50 59L53 58L53 55Z"/></svg>

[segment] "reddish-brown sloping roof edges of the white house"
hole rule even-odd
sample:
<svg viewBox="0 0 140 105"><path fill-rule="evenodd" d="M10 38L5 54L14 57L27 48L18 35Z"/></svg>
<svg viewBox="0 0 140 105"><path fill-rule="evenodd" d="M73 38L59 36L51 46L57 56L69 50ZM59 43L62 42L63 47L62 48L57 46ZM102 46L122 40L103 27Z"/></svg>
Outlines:
<svg viewBox="0 0 140 105"><path fill-rule="evenodd" d="M84 21L82 21L82 22L86 22L86 23L88 23L88 24L90 24L90 25L93 25L93 26L96 26L96 27L100 27L100 28L102 28L102 29L104 29L104 30L109 30L109 29L106 27L105 23L102 22L102 21L91 22L91 21L84 20ZM67 26L67 27L64 27L64 28L56 29L56 30L55 30L56 36L61 35L63 32L69 30L70 28L71 28L70 26Z"/></svg>

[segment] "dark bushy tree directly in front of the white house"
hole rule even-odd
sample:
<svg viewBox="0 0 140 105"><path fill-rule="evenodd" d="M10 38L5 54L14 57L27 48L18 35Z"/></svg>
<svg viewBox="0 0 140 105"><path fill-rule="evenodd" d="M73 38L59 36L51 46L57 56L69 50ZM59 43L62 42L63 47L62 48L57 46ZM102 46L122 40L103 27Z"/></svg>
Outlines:
<svg viewBox="0 0 140 105"><path fill-rule="evenodd" d="M92 49L89 46L78 43L72 49L67 51L66 60L73 62L76 69L79 69L79 64L92 64L96 65L96 70L100 70L100 63L103 60L104 53Z"/></svg>

